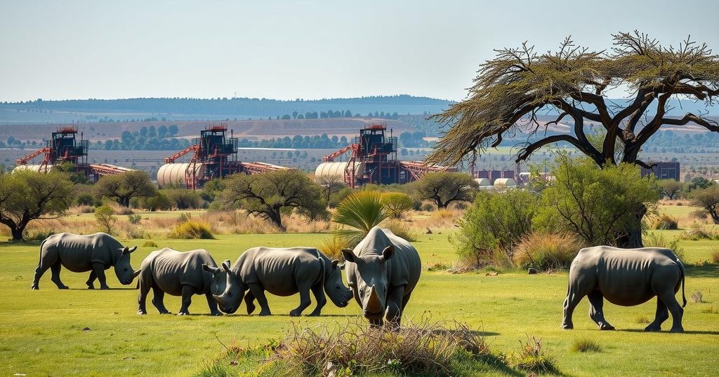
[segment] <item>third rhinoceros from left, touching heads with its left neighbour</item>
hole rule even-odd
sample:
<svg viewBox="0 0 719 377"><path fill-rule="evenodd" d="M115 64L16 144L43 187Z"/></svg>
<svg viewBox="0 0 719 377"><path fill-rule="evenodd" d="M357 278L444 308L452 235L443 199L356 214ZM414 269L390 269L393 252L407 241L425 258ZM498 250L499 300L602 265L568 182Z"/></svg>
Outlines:
<svg viewBox="0 0 719 377"><path fill-rule="evenodd" d="M352 292L342 283L339 261L330 260L316 248L250 248L230 267L224 261L221 269L206 267L212 276L212 297L226 313L234 313L244 296L247 314L255 310L253 301L260 304L260 315L272 315L267 306L265 291L277 296L291 296L299 292L300 305L290 311L296 317L310 304L310 291L317 307L310 315L320 315L327 302L325 292L338 307L346 307ZM324 291L324 292L323 292Z"/></svg>

